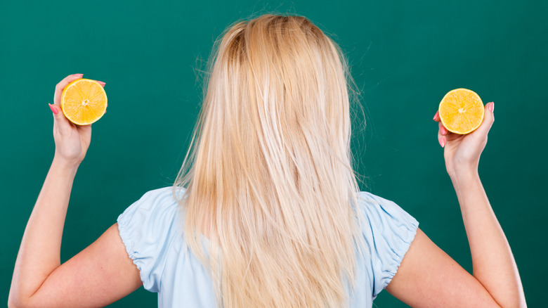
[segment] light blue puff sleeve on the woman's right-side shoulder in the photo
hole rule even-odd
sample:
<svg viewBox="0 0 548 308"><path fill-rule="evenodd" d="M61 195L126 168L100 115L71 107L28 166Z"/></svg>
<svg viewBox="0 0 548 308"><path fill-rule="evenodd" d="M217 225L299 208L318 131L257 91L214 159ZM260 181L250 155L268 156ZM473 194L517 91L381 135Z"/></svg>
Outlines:
<svg viewBox="0 0 548 308"><path fill-rule="evenodd" d="M364 219L362 231L370 255L375 298L398 271L419 222L393 201L372 193L360 192L358 203Z"/></svg>

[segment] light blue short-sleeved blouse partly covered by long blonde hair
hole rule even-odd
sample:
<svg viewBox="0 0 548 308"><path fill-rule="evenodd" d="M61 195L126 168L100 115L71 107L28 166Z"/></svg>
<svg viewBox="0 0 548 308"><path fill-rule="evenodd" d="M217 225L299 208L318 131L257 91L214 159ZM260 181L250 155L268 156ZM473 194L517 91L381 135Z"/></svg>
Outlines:
<svg viewBox="0 0 548 308"><path fill-rule="evenodd" d="M158 293L158 307L215 307L211 278L181 233L180 206L172 190L149 191L129 206L117 219L120 236L143 287ZM419 223L396 203L372 193L358 194L358 208L366 247L363 255L356 252L358 272L350 307L372 307L396 274Z"/></svg>

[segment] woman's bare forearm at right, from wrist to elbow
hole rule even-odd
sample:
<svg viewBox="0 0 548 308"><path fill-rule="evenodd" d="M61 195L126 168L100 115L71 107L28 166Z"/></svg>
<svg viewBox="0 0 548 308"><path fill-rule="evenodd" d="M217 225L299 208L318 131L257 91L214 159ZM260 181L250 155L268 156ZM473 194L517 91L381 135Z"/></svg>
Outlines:
<svg viewBox="0 0 548 308"><path fill-rule="evenodd" d="M473 275L502 307L525 307L514 256L477 172L451 177L462 211Z"/></svg>

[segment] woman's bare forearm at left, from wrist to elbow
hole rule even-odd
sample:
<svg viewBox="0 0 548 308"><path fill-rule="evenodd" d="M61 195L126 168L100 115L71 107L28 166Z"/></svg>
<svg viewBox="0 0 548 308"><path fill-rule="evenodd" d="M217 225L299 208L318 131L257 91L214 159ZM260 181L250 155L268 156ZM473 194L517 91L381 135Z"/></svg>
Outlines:
<svg viewBox="0 0 548 308"><path fill-rule="evenodd" d="M63 225L76 171L77 166L53 159L19 248L11 300L33 295L59 267Z"/></svg>

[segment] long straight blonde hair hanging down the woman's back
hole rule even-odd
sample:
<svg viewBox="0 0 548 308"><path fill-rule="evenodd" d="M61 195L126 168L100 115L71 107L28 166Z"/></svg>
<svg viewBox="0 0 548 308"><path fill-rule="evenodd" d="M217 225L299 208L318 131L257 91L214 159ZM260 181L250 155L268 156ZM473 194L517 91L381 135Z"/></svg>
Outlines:
<svg viewBox="0 0 548 308"><path fill-rule="evenodd" d="M174 195L219 307L347 306L361 237L343 53L310 20L268 14L211 55Z"/></svg>

